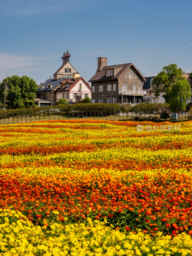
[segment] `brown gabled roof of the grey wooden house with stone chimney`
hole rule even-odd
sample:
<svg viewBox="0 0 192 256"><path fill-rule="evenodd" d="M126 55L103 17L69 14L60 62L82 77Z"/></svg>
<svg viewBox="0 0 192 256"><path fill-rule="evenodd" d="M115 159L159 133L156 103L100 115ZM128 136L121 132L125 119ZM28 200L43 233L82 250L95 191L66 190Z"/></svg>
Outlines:
<svg viewBox="0 0 192 256"><path fill-rule="evenodd" d="M112 79L119 79L119 77L121 75L123 75L123 73L130 67L133 66L135 68L135 66L133 65L133 63L126 63L126 64L119 64L119 65L112 65L112 66L105 66L103 67L99 72L96 72L96 74L91 77L91 79L89 80L89 82L93 82L93 81L104 81L104 80L112 80ZM122 68L121 68L122 67ZM115 75L115 76L105 76L105 70L106 69L112 69L112 68L121 68L119 70L119 72ZM137 70L137 72L141 75L141 73L139 72L139 70L137 68L135 68ZM141 75L142 76L142 75ZM142 76L143 81L145 81L145 78Z"/></svg>

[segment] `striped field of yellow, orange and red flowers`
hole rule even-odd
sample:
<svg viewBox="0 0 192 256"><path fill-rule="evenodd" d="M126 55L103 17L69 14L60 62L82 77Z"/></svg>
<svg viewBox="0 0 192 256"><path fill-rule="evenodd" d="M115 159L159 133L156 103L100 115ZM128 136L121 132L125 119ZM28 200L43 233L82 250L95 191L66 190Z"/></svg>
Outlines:
<svg viewBox="0 0 192 256"><path fill-rule="evenodd" d="M192 255L192 122L137 124L0 126L0 255Z"/></svg>

